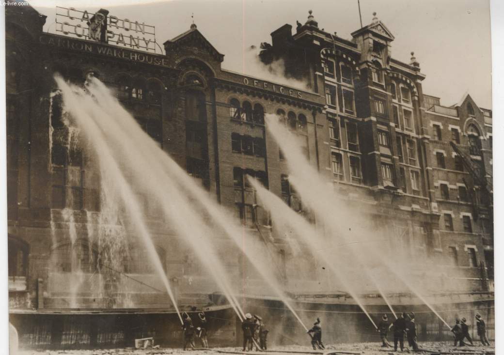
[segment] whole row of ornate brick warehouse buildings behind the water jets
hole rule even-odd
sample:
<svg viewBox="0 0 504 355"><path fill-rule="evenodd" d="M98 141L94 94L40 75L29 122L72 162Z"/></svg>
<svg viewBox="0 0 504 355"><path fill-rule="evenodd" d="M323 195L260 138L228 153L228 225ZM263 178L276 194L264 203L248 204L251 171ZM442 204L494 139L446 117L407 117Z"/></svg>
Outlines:
<svg viewBox="0 0 504 355"><path fill-rule="evenodd" d="M22 345L120 346L147 335L173 345L180 332L174 303L210 315L214 344L235 343L239 331L197 253L137 184L135 200L175 302L158 286L162 277L146 261L152 255L121 217L125 206L104 188L89 142L69 123L56 73L75 85L98 78L111 88L157 146L234 211L250 238L243 244L268 255L303 317L323 312L326 324L355 329L330 341L369 340L372 327L317 256L275 227L246 179L255 177L317 225L289 181L288 152L266 129L266 114L297 136L329 190L366 206L361 218L388 236L382 245L406 255L411 278L437 289L429 290L430 307L445 317L480 312L493 327L491 110L469 95L446 107L423 94L420 64L413 53L410 63L392 58L394 36L377 18L351 41L319 29L311 12L295 34L290 25L275 30L261 60L283 60L287 77L307 83L300 90L223 69L224 55L195 24L156 54L145 24L103 9L61 14L69 20L58 24L59 35L42 31L45 17L34 9L6 8L9 302ZM142 35L114 33L119 24ZM277 339L290 342L302 328L285 326L293 316L282 300L228 241L213 244L239 302L267 313L283 328ZM359 290L371 316L387 311L382 292ZM417 313L420 338L449 334L425 297L394 289L388 298Z"/></svg>

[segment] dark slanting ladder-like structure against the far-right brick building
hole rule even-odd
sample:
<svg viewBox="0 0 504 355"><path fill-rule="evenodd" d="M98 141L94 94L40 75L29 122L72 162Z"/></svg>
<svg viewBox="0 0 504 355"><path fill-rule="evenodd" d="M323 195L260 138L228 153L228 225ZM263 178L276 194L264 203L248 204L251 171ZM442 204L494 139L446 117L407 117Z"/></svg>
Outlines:
<svg viewBox="0 0 504 355"><path fill-rule="evenodd" d="M457 155L461 158L462 163L466 167L466 169L469 171L472 181L471 180L466 180L465 178L462 179L464 182L464 185L466 185L467 193L469 195L469 199L471 201L471 204L473 206L474 210L474 220L478 220L478 216L480 215L481 212L481 201L480 199L476 196L476 189L475 186L478 186L480 191L481 191L481 197L485 199L485 201L489 204L492 205L492 191L493 191L493 186L492 184L485 178L485 169L484 166L479 165L475 163L471 156L462 149L460 149L453 141L450 142L450 145L452 146L453 150ZM492 208L489 208L489 217L492 218Z"/></svg>

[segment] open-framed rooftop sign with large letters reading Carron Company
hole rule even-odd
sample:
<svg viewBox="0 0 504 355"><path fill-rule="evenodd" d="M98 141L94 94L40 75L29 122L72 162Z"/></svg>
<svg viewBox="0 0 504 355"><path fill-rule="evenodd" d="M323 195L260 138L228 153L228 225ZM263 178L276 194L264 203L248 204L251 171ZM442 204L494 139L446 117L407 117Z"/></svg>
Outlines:
<svg viewBox="0 0 504 355"><path fill-rule="evenodd" d="M109 15L108 10L96 13L75 8L56 7L56 32L96 42L132 49L156 51L154 26Z"/></svg>

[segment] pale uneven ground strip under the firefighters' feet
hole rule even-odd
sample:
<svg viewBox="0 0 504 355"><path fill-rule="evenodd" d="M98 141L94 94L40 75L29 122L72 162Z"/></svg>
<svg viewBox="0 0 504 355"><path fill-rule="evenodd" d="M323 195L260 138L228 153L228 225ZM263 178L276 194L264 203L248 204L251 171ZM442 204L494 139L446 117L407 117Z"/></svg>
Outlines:
<svg viewBox="0 0 504 355"><path fill-rule="evenodd" d="M420 351L417 353L424 354L494 354L495 349L493 343L491 346L464 346L464 347L454 347L453 343L445 342L422 342L419 344L421 346ZM398 350L400 353L400 350ZM409 352L405 348L404 352ZM413 352L413 351L411 351ZM184 351L180 348L150 348L150 349L133 349L133 348L121 348L121 349L103 349L103 350L21 350L18 351L18 355L154 355L154 354L191 354L191 355L219 355L226 353L238 353L242 354L241 347L221 347L212 349L195 349ZM325 350L312 350L310 346L272 346L268 351L247 351L245 352L249 355L287 355L294 354L300 355L301 353L318 355L318 354L334 354L334 355L385 355L387 353L395 353L394 348L384 348L379 343L349 343L349 344L336 344L336 345L326 345Z"/></svg>

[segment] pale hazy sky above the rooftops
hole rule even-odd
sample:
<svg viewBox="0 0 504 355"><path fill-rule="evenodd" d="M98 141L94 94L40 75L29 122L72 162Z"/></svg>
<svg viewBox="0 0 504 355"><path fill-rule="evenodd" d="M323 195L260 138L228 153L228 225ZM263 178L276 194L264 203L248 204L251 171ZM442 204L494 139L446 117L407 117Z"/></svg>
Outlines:
<svg viewBox="0 0 504 355"><path fill-rule="evenodd" d="M162 43L189 29L191 14L201 33L224 54L223 67L246 72L245 50L270 42L270 33L296 20L306 21L308 10L319 27L350 39L360 27L357 0L34 0L47 16L44 30L54 32L55 6L95 12L145 22L156 27ZM117 5L117 4L121 5ZM131 4L137 5L131 5ZM127 4L127 5L125 5ZM128 5L129 4L129 5ZM138 5L141 4L141 5ZM441 98L443 105L457 103L469 92L476 103L491 105L490 17L488 0L360 0L362 22L372 13L394 34L392 57L409 62L414 51L427 78L425 94ZM50 26L52 24L52 26ZM49 28L50 26L50 28Z"/></svg>

